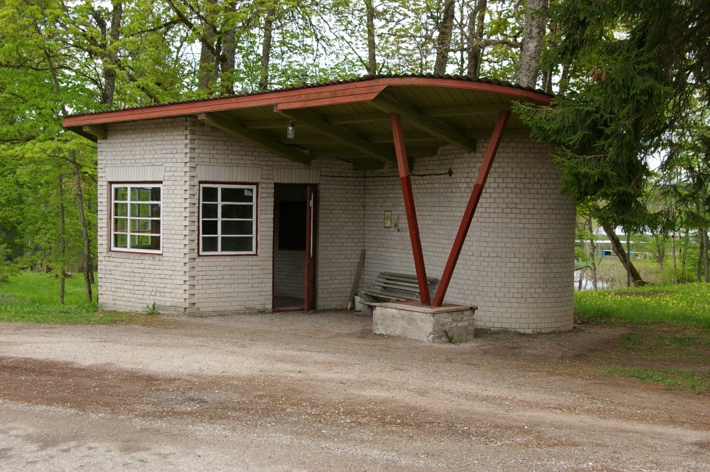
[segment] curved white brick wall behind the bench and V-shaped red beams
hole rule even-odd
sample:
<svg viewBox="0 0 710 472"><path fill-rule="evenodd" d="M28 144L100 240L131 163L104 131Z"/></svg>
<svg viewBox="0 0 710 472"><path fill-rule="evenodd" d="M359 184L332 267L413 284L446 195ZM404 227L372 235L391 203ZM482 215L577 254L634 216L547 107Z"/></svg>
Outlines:
<svg viewBox="0 0 710 472"><path fill-rule="evenodd" d="M472 155L444 147L415 159L412 177L427 275L441 277L487 142ZM366 180L365 285L384 270L415 273L407 216L394 168ZM574 204L557 193L549 150L503 139L445 301L474 304L476 326L547 332L572 328ZM393 227L383 228L384 211ZM432 290L434 292L434 290Z"/></svg>

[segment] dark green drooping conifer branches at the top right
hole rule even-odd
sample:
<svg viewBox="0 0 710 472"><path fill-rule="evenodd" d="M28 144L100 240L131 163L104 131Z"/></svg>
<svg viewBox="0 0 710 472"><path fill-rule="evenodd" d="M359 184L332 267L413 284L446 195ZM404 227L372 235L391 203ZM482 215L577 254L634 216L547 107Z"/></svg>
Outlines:
<svg viewBox="0 0 710 472"><path fill-rule="evenodd" d="M519 106L533 136L557 146L562 190L577 202L601 202L599 218L644 226L640 202L648 156L708 101L707 2L566 0L552 6L561 42L547 67L566 79L551 106ZM692 37L694 40L688 41ZM704 39L699 39L699 38Z"/></svg>

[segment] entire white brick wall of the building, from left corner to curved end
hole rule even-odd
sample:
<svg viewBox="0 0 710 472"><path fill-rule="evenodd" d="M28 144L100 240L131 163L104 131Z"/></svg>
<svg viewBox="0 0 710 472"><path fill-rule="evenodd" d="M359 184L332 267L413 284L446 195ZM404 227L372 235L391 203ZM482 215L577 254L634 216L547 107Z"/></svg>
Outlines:
<svg viewBox="0 0 710 472"><path fill-rule="evenodd" d="M413 177L427 273L441 277L482 160L444 147L414 161ZM574 204L557 193L548 149L504 139L446 300L475 304L476 326L544 332L572 327ZM111 181L163 182L163 254L108 251ZM200 182L258 185L256 256L197 256ZM274 184L318 189L317 307L344 308L360 252L359 288L384 270L414 273L397 170L354 172L338 160L310 168L204 126L170 119L109 128L99 143L99 296L112 309L217 314L270 310L273 296ZM392 212L392 227L383 214ZM435 289L435 287L433 287ZM433 290L432 290L433 292Z"/></svg>

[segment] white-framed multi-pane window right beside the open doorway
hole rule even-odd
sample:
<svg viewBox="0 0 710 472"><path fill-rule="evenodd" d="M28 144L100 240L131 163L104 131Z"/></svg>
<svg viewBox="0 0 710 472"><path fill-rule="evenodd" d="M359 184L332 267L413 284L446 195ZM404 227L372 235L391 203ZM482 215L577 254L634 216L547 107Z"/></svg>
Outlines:
<svg viewBox="0 0 710 472"><path fill-rule="evenodd" d="M200 254L256 254L256 185L200 184Z"/></svg>

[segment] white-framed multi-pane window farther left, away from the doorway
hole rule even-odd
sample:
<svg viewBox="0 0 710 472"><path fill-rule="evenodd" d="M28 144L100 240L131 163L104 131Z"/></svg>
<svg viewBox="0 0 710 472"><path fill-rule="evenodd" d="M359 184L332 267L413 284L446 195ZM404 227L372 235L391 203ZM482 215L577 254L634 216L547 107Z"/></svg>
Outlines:
<svg viewBox="0 0 710 472"><path fill-rule="evenodd" d="M160 253L160 184L111 184L111 251Z"/></svg>

